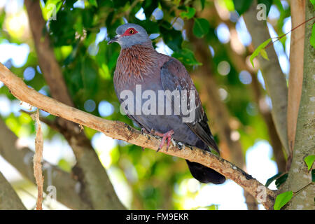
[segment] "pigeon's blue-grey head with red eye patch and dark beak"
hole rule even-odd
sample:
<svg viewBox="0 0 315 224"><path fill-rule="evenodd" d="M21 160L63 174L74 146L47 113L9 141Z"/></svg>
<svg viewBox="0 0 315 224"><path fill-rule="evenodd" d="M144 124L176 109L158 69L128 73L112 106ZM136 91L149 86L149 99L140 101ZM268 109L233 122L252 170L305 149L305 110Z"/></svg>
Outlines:
<svg viewBox="0 0 315 224"><path fill-rule="evenodd" d="M117 42L121 48L129 48L132 45L151 43L146 29L137 24L126 23L121 25L116 29L116 34L108 44Z"/></svg>

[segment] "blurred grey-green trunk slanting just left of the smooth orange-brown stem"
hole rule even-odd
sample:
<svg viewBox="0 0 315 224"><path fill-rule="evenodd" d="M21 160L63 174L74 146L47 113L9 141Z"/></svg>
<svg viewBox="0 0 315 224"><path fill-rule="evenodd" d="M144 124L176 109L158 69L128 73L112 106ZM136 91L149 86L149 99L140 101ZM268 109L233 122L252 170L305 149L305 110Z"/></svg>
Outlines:
<svg viewBox="0 0 315 224"><path fill-rule="evenodd" d="M264 41L270 38L269 31L265 21L259 21L256 19L257 2L253 1L253 4L249 10L244 13L244 21L246 27L251 34L252 43L255 48L258 47ZM260 64L260 70L265 80L266 90L269 97L272 100L272 118L276 127L276 132L279 135L279 139L286 151L286 154L290 156L288 149L288 133L286 125L286 112L288 104L288 87L286 85L286 78L283 75L278 57L274 48L271 46L266 49L269 60L258 57Z"/></svg>

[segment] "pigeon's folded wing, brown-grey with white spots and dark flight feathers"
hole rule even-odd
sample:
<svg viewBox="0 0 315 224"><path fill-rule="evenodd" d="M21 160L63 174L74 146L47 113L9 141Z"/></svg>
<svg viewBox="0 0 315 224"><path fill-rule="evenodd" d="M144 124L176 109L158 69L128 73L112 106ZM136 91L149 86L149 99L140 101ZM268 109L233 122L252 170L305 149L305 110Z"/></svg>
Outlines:
<svg viewBox="0 0 315 224"><path fill-rule="evenodd" d="M195 92L195 119L189 121L186 125L188 125L190 130L192 130L197 137L200 137L205 144L219 153L216 141L214 141L214 137L207 124L208 118L202 108L199 94L185 66L183 66L177 59L169 59L169 61L165 62L161 68L161 81L165 91L169 90L170 92L173 92L174 90L179 90L181 97L186 93L183 92L183 90L186 90L186 102L188 105L190 105L190 91L193 90ZM174 97L170 96L168 99L172 102L172 105L174 105ZM190 109L189 106L186 108ZM181 109L183 109L183 107L181 107ZM184 117L183 113L180 113L179 116L182 118Z"/></svg>

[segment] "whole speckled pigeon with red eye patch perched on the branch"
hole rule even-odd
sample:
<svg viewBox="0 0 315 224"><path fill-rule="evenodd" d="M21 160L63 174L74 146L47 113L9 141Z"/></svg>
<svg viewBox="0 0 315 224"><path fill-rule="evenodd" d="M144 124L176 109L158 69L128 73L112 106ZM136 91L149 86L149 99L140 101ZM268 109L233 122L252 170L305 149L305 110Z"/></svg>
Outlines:
<svg viewBox="0 0 315 224"><path fill-rule="evenodd" d="M195 89L193 80L190 78L185 66L179 60L157 52L152 45L146 30L135 24L121 25L116 29L117 35L109 41L109 43L117 42L121 46L120 55L117 60L116 71L114 73L113 83L120 104L123 104L127 97L122 97L125 90L132 92L133 102L135 104L132 109L130 105L124 108L127 116L134 120L144 132L162 137L161 145L167 143L167 148L171 142L171 137L175 141L190 146L202 148L205 151L210 151L209 146L215 151L218 151L218 146L214 141L209 126L207 124L207 116L202 109L200 97ZM142 109L145 102L150 97L144 97L142 94L137 94L137 87L141 87L141 91L150 90L158 96L159 91L179 90L183 96L187 96L187 104L190 102L190 90L195 90L195 119L191 122L183 122L183 113L174 113L175 105L174 97L165 96L165 101L160 103L160 99L152 99L157 102L156 108L148 107L148 109L156 110L156 113L137 113L137 109ZM166 94L165 94L166 95ZM193 96L193 95L192 95ZM158 98L158 97L157 97ZM158 113L158 107L163 110L167 107L167 100L172 104L172 113ZM168 103L169 103L168 102ZM135 112L134 112L135 111ZM163 134L162 134L163 133ZM196 162L186 160L191 174L202 183L223 183L225 177L214 169L209 169Z"/></svg>

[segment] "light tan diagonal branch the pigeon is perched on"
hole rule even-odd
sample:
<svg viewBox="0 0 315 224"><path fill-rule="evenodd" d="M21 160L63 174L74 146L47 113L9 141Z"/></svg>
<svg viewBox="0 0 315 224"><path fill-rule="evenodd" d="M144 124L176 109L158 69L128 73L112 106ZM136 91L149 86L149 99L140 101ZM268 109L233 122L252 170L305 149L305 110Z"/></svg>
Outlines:
<svg viewBox="0 0 315 224"><path fill-rule="evenodd" d="M3 66L3 64L0 64L0 80L10 89L10 92L22 102L27 102L39 109L42 109L43 111L51 113L52 115L65 118L99 132L103 132L113 139L120 139L127 141L130 144L135 144L145 148L152 148L155 151L158 150L160 138L153 137L149 134L141 134L141 132L134 130L125 123L92 116L90 113L85 113L71 106L62 104L55 99L46 97L45 95L27 87L22 79L15 76L10 70ZM228 179L238 183L239 186L244 188L244 190L247 190L248 193L251 193L251 195L256 198L261 196L260 193L263 191L264 193L262 193L262 195L265 195L266 197L262 204L266 209L272 209L276 192L269 190L263 186L262 183L259 183L256 179L253 179L253 177L246 174L243 170L239 169L227 160L218 158L214 154L195 147L186 146L179 150L177 146L173 146L172 144L168 151L166 151L166 146L164 146L161 149L161 152L187 159L192 162L198 162L204 166L210 167L211 169L215 169Z"/></svg>

